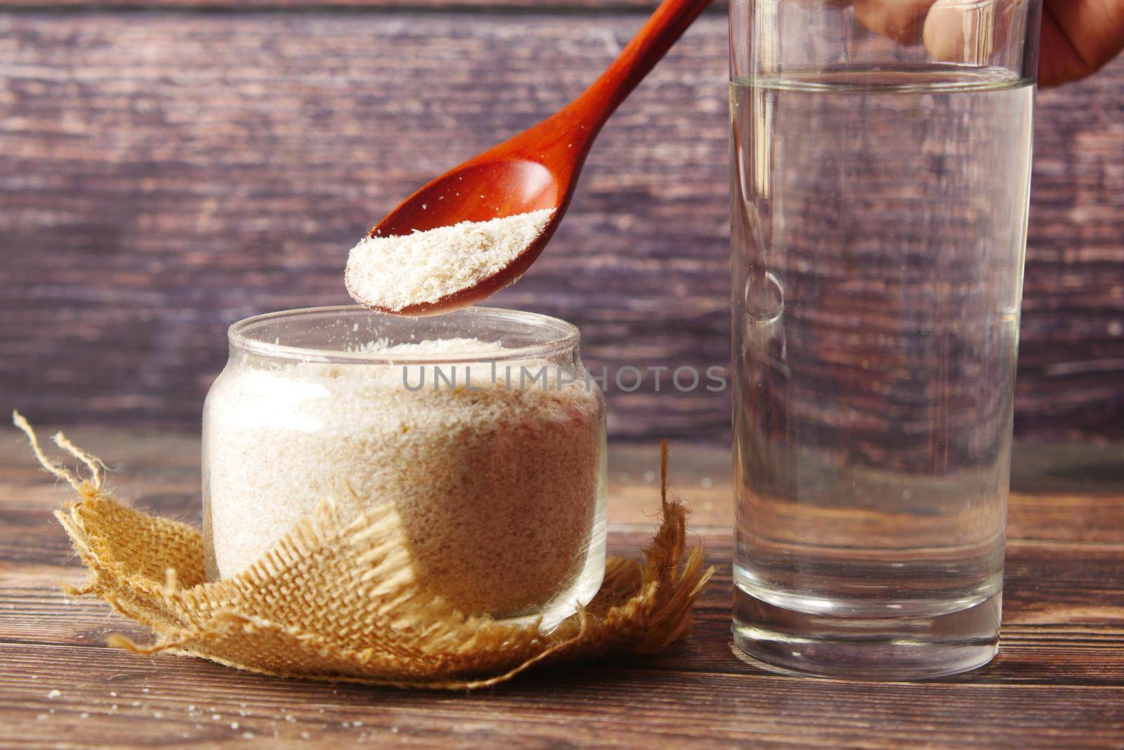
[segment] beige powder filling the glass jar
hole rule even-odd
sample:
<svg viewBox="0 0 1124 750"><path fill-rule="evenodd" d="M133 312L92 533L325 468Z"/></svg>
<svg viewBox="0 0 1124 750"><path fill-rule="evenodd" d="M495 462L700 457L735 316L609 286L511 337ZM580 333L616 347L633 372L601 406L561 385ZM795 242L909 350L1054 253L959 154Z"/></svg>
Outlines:
<svg viewBox="0 0 1124 750"><path fill-rule="evenodd" d="M450 339L365 350L479 354ZM590 549L602 502L602 397L586 383L520 386L544 360L441 365L296 363L229 368L207 399L211 575L254 562L316 505L345 519L391 503L420 580L469 613L516 616L549 604L600 565ZM426 386L408 391L428 377ZM478 390L479 388L479 390ZM587 566L592 566L587 568ZM598 567L598 575L600 570Z"/></svg>

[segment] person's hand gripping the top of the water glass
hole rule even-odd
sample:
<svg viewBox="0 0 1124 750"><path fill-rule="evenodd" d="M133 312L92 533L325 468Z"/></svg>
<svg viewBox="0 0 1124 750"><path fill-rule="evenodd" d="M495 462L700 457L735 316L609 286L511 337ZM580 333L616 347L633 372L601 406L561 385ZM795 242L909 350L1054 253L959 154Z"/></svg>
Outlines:
<svg viewBox="0 0 1124 750"><path fill-rule="evenodd" d="M988 13L1015 12L1025 0L853 0L852 4L859 22L872 31L900 44L924 43L935 60L964 62L975 48L966 44L966 35L984 34ZM1005 24L992 22L992 28L1003 29ZM1121 49L1124 0L1044 0L1041 85L1085 77Z"/></svg>

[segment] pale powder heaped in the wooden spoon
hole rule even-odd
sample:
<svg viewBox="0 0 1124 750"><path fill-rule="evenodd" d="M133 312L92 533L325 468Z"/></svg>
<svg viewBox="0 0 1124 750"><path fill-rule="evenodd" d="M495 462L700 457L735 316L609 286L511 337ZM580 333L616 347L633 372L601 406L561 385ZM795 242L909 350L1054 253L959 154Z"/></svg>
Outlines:
<svg viewBox="0 0 1124 750"><path fill-rule="evenodd" d="M553 213L542 209L413 235L368 236L352 248L344 283L368 308L436 302L508 266L543 234Z"/></svg>

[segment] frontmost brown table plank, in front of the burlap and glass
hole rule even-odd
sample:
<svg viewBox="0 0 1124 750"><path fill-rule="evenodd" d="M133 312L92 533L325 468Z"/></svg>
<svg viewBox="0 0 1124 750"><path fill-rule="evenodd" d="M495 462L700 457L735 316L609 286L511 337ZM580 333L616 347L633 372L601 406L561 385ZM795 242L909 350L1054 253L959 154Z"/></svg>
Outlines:
<svg viewBox="0 0 1124 750"><path fill-rule="evenodd" d="M90 747L89 738L97 738L97 747L220 743L250 732L248 739L262 747L307 739L306 748L359 742L464 748L502 741L514 748L1053 749L1112 747L1122 719L1117 686L855 685L764 671L606 666L528 675L491 692L433 695L278 684L205 662L162 669L158 660L144 665L103 649L0 648L0 686L11 699L8 716L18 720L7 737L60 742L52 747ZM67 675L65 683L51 679L60 671ZM39 679L28 679L28 673ZM63 689L55 699L46 697L52 685Z"/></svg>

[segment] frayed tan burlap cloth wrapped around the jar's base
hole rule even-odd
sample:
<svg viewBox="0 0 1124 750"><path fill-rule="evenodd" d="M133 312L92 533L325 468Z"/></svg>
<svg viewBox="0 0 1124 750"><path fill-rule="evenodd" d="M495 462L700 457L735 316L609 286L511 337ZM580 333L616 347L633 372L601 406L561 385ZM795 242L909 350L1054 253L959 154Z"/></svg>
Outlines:
<svg viewBox="0 0 1124 750"><path fill-rule="evenodd" d="M105 465L70 442L81 477L51 460L18 413L39 463L78 499L55 511L90 571L69 588L92 594L149 628L137 653L171 651L250 671L372 685L464 689L496 685L538 662L655 653L689 634L691 605L714 573L688 549L687 506L669 499L661 446L661 516L644 561L609 558L590 604L544 633L537 624L465 616L415 579L397 518L372 510L341 523L334 506L298 524L244 573L207 583L202 536L127 507L105 486Z"/></svg>

